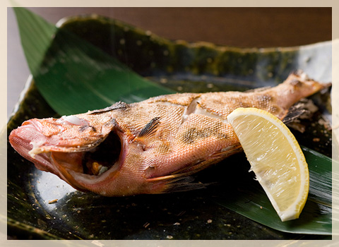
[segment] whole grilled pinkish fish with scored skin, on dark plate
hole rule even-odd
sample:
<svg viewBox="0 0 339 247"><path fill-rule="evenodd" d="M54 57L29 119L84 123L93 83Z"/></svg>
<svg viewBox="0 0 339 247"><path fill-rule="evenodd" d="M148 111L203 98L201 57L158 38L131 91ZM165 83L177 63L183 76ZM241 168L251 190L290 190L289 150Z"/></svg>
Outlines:
<svg viewBox="0 0 339 247"><path fill-rule="evenodd" d="M30 119L9 135L37 169L105 196L184 191L191 174L242 150L227 115L237 107L284 119L292 104L326 87L292 73L274 88L182 93L60 119Z"/></svg>

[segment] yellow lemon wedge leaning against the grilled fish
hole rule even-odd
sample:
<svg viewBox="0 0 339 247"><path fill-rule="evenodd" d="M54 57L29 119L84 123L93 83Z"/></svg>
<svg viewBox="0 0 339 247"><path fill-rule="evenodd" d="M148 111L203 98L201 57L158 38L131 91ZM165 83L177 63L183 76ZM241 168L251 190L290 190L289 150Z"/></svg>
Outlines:
<svg viewBox="0 0 339 247"><path fill-rule="evenodd" d="M237 108L227 120L280 219L297 219L309 193L309 169L295 136L261 109Z"/></svg>

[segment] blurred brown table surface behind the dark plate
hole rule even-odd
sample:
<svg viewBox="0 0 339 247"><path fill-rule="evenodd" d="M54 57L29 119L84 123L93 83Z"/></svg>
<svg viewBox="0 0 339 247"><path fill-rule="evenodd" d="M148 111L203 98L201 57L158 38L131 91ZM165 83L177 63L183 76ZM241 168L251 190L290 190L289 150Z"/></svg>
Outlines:
<svg viewBox="0 0 339 247"><path fill-rule="evenodd" d="M166 37L232 47L293 47L332 39L331 8L30 8L50 23L97 13ZM8 8L7 116L30 75Z"/></svg>

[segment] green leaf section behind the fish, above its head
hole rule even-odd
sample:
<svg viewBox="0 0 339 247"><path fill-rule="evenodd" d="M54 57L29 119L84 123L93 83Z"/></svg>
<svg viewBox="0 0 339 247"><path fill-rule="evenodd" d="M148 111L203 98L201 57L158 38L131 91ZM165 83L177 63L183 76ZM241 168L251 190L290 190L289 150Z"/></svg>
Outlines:
<svg viewBox="0 0 339 247"><path fill-rule="evenodd" d="M56 32L57 28L40 16L25 8L15 9L23 49L37 88L60 115L102 109L119 100L131 103L174 92L138 76L71 32Z"/></svg>

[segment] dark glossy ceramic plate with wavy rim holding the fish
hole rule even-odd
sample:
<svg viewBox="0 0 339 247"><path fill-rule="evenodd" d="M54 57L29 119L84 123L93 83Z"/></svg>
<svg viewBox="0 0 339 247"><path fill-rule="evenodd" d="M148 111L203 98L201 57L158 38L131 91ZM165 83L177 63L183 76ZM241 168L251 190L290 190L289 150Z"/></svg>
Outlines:
<svg viewBox="0 0 339 247"><path fill-rule="evenodd" d="M98 16L77 16L61 28L76 33L134 71L178 92L249 90L276 85L291 71L331 80L331 42L305 47L239 49L214 44L172 42L126 23ZM114 36L112 36L114 30ZM136 45L140 44L140 45ZM124 45L124 47L121 47ZM315 69L316 68L316 69ZM313 98L321 112L326 102ZM18 108L8 121L8 134L26 119L57 114L29 79ZM319 119L320 115L314 116ZM314 143L316 120L306 121L299 143L331 157L331 133ZM324 239L326 236L276 231L215 203L215 191L237 191L234 177L249 176L244 155L197 175L213 182L208 188L165 195L104 198L81 193L56 176L39 171L8 143L8 236L13 239ZM225 174L216 176L215 174ZM227 175L228 174L228 175ZM232 175L232 176L231 176ZM253 179L252 179L253 180Z"/></svg>

